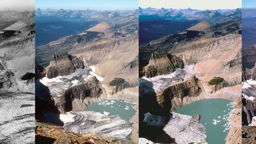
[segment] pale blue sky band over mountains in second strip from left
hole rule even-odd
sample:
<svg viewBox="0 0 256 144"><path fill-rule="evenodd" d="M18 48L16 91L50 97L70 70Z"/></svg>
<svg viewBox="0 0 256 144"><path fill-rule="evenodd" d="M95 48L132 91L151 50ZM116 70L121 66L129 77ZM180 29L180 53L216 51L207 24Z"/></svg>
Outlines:
<svg viewBox="0 0 256 144"><path fill-rule="evenodd" d="M138 0L36 0L36 8L72 10L135 10Z"/></svg>

